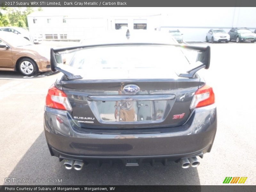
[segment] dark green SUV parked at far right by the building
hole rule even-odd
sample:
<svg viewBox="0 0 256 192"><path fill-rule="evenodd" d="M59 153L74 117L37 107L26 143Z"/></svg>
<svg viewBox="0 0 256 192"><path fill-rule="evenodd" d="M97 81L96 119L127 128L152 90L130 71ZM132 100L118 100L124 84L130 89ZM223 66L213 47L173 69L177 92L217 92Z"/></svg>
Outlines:
<svg viewBox="0 0 256 192"><path fill-rule="evenodd" d="M232 28L228 34L230 35L230 41L236 40L236 43L243 41L251 41L254 43L256 40L255 34L247 28Z"/></svg>

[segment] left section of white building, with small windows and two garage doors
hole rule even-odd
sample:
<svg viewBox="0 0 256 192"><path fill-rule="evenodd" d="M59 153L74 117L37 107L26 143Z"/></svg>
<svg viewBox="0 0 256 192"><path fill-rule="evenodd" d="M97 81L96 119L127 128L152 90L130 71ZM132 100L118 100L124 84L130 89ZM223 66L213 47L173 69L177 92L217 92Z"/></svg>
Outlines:
<svg viewBox="0 0 256 192"><path fill-rule="evenodd" d="M28 15L28 27L32 33L45 39L84 39L106 30L127 26L132 29L159 28L161 15L56 14L33 12Z"/></svg>

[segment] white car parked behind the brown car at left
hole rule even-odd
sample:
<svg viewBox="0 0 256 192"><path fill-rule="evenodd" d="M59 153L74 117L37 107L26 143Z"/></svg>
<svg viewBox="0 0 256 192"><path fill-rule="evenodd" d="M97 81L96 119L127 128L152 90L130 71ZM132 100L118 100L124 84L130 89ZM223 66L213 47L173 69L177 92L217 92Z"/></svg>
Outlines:
<svg viewBox="0 0 256 192"><path fill-rule="evenodd" d="M42 41L42 36L38 34L31 34L28 30L20 28L20 27L1 27L0 31L12 32L21 36L32 43L39 43Z"/></svg>

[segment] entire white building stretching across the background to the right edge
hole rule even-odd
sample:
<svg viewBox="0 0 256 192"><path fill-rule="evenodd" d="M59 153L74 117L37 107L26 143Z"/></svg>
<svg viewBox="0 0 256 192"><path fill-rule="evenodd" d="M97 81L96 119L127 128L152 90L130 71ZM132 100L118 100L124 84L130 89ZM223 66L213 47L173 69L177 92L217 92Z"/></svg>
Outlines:
<svg viewBox="0 0 256 192"><path fill-rule="evenodd" d="M253 31L256 28L256 7L55 9L63 11L57 13L53 9L28 15L29 31L42 34L46 39L84 39L127 26L167 32L179 29L184 41L204 41L211 28L223 28L227 32L232 27L247 27Z"/></svg>

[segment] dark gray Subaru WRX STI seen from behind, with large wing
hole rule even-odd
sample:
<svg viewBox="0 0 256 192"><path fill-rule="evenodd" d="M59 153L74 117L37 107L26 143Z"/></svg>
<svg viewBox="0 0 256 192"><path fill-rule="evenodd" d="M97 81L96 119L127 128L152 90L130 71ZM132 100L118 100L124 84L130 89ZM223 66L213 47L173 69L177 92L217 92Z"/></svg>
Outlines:
<svg viewBox="0 0 256 192"><path fill-rule="evenodd" d="M210 47L144 31L99 39L51 50L52 71L64 74L46 97L51 155L76 170L116 161L198 166L217 128L212 87L196 73L209 68ZM198 52L195 67L186 49ZM73 58L63 65L61 54L68 52Z"/></svg>

